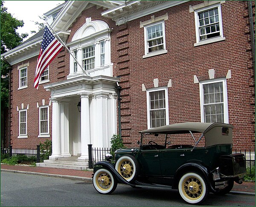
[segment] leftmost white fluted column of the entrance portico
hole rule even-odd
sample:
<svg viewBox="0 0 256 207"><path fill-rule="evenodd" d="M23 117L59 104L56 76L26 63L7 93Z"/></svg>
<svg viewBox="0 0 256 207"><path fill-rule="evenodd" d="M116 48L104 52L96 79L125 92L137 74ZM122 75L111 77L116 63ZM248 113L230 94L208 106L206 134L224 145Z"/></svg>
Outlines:
<svg viewBox="0 0 256 207"><path fill-rule="evenodd" d="M59 102L56 99L52 101L52 155L50 160L56 160L61 156L60 148L60 110Z"/></svg>

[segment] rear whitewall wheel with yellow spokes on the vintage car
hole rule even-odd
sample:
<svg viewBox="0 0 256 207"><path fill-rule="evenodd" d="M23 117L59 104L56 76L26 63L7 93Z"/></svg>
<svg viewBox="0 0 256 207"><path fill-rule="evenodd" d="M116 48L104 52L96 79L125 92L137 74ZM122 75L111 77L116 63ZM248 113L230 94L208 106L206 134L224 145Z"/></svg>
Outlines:
<svg viewBox="0 0 256 207"><path fill-rule="evenodd" d="M181 198L189 204L202 203L209 194L209 187L204 178L198 173L185 173L179 181Z"/></svg>

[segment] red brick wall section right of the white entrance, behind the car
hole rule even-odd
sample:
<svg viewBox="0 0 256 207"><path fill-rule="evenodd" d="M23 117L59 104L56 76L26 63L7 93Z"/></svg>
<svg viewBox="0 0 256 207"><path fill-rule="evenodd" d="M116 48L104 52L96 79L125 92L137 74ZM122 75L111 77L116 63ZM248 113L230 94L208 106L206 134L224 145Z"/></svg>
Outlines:
<svg viewBox="0 0 256 207"><path fill-rule="evenodd" d="M116 68L114 74L121 76L122 137L126 145L137 146L138 132L147 128L143 83L152 84L154 78L158 78L159 82L172 79L172 87L168 88L169 123L201 122L199 84L194 84L193 76L208 76L208 70L214 69L215 77L231 70L232 78L227 79L227 93L229 123L234 125L234 149L254 148L255 94L252 68L248 67L251 52L247 49L249 33L245 32L248 27L247 3L228 1L221 4L226 40L194 47L195 18L193 12L189 13L189 5L199 3L184 3L122 26L125 28L119 32L122 38L117 38L127 42L117 44L116 48L121 47L124 53L128 48L128 54L119 54L117 62L113 61L113 68ZM168 53L143 59L144 31L140 28L140 21L166 12L169 17L165 21Z"/></svg>

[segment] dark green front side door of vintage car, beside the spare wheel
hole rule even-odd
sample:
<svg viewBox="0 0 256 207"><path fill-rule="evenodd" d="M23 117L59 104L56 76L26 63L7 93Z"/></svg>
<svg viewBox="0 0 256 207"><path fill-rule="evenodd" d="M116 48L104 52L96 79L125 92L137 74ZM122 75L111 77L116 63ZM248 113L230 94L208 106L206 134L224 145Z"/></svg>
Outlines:
<svg viewBox="0 0 256 207"><path fill-rule="evenodd" d="M144 176L161 176L160 150L141 150L138 161Z"/></svg>

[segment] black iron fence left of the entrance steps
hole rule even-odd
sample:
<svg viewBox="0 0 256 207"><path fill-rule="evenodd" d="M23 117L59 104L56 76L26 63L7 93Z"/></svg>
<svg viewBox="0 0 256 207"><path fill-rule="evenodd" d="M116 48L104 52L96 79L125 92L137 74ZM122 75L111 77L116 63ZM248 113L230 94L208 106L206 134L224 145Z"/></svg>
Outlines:
<svg viewBox="0 0 256 207"><path fill-rule="evenodd" d="M28 147L1 147L1 160L16 157L18 162L40 162L40 145L36 148Z"/></svg>

